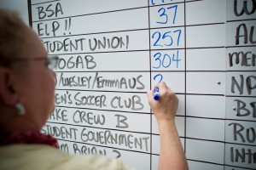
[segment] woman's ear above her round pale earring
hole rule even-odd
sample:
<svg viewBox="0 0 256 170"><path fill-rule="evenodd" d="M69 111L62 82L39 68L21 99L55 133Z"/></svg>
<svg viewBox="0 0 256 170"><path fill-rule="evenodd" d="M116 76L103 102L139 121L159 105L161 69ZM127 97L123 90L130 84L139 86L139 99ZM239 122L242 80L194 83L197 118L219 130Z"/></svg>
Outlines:
<svg viewBox="0 0 256 170"><path fill-rule="evenodd" d="M15 74L8 68L0 67L0 101L3 105L14 106L18 101Z"/></svg>

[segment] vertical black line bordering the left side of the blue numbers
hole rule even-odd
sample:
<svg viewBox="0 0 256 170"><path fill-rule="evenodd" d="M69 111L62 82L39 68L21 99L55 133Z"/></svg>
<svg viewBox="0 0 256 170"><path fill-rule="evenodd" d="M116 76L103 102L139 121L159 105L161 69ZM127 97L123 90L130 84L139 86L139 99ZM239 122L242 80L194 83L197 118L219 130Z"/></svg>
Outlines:
<svg viewBox="0 0 256 170"><path fill-rule="evenodd" d="M150 73L150 89L152 89L152 82L151 82L151 36L150 36L150 3L149 3L150 0L148 0L148 52L149 52L149 55L148 55L148 58L149 58L149 73ZM153 123L152 123L152 111L150 109L150 170L152 170L152 126L153 126Z"/></svg>

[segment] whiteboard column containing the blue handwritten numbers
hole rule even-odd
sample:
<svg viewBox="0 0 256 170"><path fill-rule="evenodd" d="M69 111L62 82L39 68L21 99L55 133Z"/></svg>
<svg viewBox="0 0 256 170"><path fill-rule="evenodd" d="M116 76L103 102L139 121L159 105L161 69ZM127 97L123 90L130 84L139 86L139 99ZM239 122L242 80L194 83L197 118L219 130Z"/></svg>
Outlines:
<svg viewBox="0 0 256 170"><path fill-rule="evenodd" d="M184 136L184 3L150 1L151 87L166 82L177 97L179 105L177 131ZM152 169L157 169L160 136L157 122L152 119ZM183 140L182 140L183 143Z"/></svg>

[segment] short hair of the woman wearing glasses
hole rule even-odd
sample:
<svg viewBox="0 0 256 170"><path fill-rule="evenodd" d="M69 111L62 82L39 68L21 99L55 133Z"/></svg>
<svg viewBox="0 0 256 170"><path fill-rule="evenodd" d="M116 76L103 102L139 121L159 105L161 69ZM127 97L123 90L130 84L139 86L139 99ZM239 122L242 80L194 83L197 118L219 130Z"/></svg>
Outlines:
<svg viewBox="0 0 256 170"><path fill-rule="evenodd" d="M0 65L25 54L26 24L14 11L0 8ZM7 66L7 65L5 65Z"/></svg>

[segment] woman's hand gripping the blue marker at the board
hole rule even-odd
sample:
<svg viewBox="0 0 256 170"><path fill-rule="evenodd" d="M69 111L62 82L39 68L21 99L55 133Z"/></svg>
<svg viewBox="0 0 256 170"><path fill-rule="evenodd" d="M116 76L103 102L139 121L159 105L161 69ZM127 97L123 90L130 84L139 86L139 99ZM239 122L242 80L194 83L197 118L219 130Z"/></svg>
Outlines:
<svg viewBox="0 0 256 170"><path fill-rule="evenodd" d="M158 122L174 121L178 105L176 94L166 86L166 82L160 82L155 87L159 88L160 100L154 100L154 89L148 91L148 103L154 112L154 116Z"/></svg>

